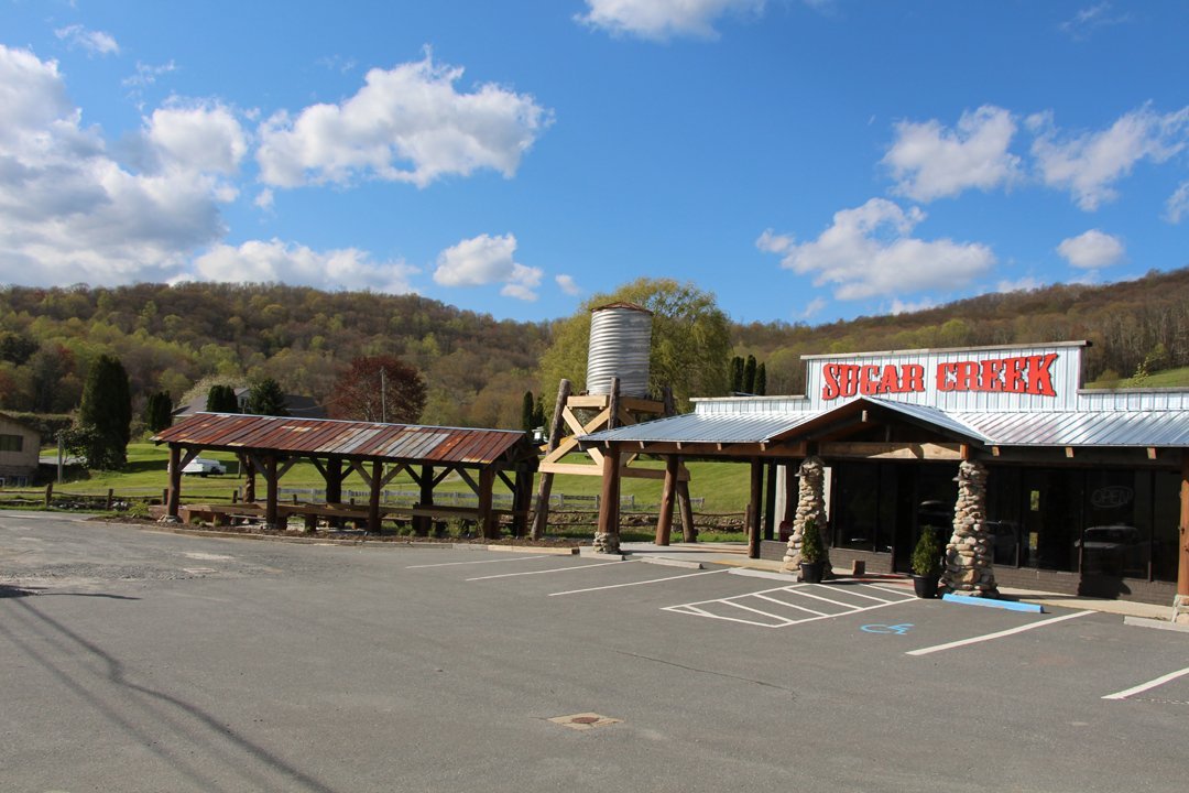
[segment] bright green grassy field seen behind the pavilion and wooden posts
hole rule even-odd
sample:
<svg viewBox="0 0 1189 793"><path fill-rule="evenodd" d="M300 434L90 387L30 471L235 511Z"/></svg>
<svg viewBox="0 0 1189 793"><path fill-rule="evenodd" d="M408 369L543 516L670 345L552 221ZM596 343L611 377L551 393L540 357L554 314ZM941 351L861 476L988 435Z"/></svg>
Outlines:
<svg viewBox="0 0 1189 793"><path fill-rule="evenodd" d="M52 449L45 449L45 455L51 455ZM220 460L227 467L226 476L195 477L187 476L182 483L182 497L184 501L194 502L203 497L218 497L229 499L233 491L244 484L244 478L238 476L238 461L234 454L220 452L203 452L203 458ZM169 478L165 468L169 461L166 447L153 446L152 443L131 443L128 446L128 462L124 471L119 472L78 472L73 471L73 476L62 485L56 485L55 490L71 495L106 495L108 489L114 490L121 497L152 497L157 496L169 486ZM663 464L656 460L636 462L642 467L663 468ZM702 498L702 505L696 508L699 512L742 512L747 509L749 470L743 464L731 462L691 462L690 467L690 496ZM282 489L322 489L325 486L322 476L313 465L300 462L289 470L281 480ZM352 473L344 482L345 491L366 492L367 486L358 474ZM553 480L553 493L565 493L566 496L594 496L599 492L602 479L597 476L574 477L556 476ZM264 483L257 480L257 492L263 495ZM497 485L497 492L499 492ZM457 476L448 477L439 485L439 492L471 492L470 487ZM415 491L416 485L408 474L402 473L396 477L386 487L389 491ZM638 509L650 509L660 502L661 483L655 479L624 479L622 484L623 496L633 496Z"/></svg>

